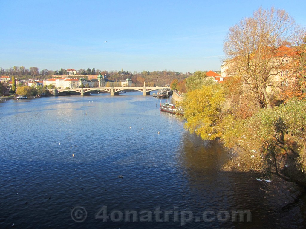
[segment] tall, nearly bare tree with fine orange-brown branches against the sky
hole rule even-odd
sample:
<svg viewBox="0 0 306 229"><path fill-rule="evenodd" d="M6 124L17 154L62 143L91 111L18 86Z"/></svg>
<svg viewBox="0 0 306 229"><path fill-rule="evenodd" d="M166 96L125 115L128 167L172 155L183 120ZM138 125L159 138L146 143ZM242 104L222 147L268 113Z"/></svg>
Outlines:
<svg viewBox="0 0 306 229"><path fill-rule="evenodd" d="M282 70L288 54L289 41L296 32L294 19L285 10L259 8L252 17L244 18L229 28L223 50L227 56L228 73L241 77L244 85L271 108L271 93L279 85L274 76ZM290 69L292 70L292 69ZM289 71L287 78L294 71Z"/></svg>

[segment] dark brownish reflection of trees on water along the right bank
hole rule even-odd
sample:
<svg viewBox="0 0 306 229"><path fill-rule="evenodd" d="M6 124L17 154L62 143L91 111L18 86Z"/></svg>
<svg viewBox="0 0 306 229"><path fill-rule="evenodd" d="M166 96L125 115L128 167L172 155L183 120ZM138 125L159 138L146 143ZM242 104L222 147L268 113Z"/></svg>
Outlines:
<svg viewBox="0 0 306 229"><path fill-rule="evenodd" d="M252 213L252 225L236 224L231 220L225 224L240 225L242 228L253 228L254 225L273 228L279 220L277 214L287 214L281 207L293 198L282 193L284 188L277 187L277 180L272 183L259 182L256 180L260 176L257 173L220 171L221 165L229 159L228 152L221 144L203 141L195 134L186 132L182 133L177 155L182 180L186 182L187 208L194 213L212 210L217 214L225 210L232 214L237 209L249 210ZM301 211L290 211L289 214L297 218Z"/></svg>

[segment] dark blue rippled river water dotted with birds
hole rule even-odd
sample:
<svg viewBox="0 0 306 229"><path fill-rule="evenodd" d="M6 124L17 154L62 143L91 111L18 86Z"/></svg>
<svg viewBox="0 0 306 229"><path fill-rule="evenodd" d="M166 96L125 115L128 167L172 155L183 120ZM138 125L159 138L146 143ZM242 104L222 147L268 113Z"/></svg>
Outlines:
<svg viewBox="0 0 306 229"><path fill-rule="evenodd" d="M160 111L165 100L127 92L2 102L0 228L306 226L304 195L220 171L230 153Z"/></svg>

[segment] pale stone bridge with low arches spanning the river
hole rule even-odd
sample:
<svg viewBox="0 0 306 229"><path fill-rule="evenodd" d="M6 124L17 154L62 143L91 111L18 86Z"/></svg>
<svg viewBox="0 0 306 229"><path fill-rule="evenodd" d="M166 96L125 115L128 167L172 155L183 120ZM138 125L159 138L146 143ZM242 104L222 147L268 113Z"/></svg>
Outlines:
<svg viewBox="0 0 306 229"><path fill-rule="evenodd" d="M150 95L151 91L156 91L159 89L168 88L170 87L90 87L90 88L67 88L67 89L50 89L50 93L54 96L58 96L61 93L65 92L78 92L81 94L81 96L89 95L90 92L93 91L104 91L110 93L111 96L119 95L119 92L125 91L125 90L133 90L133 91L141 91L143 95Z"/></svg>

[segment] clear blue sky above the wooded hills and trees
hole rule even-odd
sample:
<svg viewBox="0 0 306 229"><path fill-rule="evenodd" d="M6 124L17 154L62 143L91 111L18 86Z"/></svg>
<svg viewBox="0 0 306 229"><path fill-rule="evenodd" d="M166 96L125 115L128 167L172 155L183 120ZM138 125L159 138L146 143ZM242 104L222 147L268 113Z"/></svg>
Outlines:
<svg viewBox="0 0 306 229"><path fill-rule="evenodd" d="M304 1L1 0L0 67L217 71L228 28L272 5L306 26Z"/></svg>

